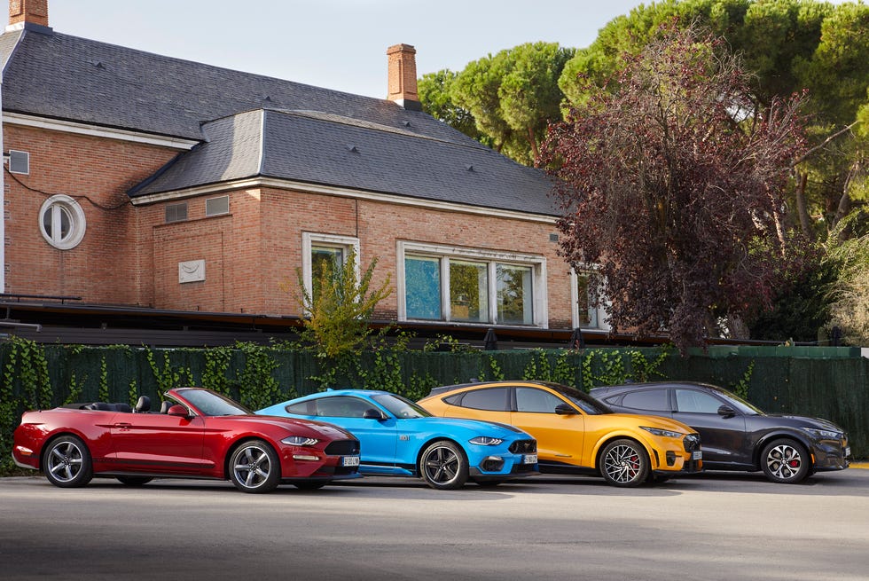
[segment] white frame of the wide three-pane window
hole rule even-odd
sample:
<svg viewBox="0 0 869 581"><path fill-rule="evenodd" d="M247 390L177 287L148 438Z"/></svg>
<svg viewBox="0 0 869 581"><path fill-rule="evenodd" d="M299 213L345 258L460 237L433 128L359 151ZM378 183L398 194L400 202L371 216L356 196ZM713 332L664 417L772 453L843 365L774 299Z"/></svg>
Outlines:
<svg viewBox="0 0 869 581"><path fill-rule="evenodd" d="M441 314L442 319L409 319L407 318L407 298L404 273L404 255L427 255L441 258ZM485 262L489 276L489 322L471 323L454 321L450 313L450 258ZM446 259L446 260L444 260ZM549 328L549 292L546 283L546 257L518 252L489 250L485 248L469 248L450 246L446 244L429 244L398 240L395 248L396 292L398 302L398 320L425 320L427 323L443 325L467 326L497 326L497 267L496 264L511 264L531 267L531 300L533 321L531 325L542 329ZM510 325L515 326L515 325Z"/></svg>

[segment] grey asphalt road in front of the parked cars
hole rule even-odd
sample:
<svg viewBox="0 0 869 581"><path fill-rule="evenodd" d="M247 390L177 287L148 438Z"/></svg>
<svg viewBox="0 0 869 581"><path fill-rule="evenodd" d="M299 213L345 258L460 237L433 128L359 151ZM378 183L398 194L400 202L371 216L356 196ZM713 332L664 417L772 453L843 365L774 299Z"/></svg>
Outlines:
<svg viewBox="0 0 869 581"><path fill-rule="evenodd" d="M248 495L160 480L0 479L0 579L869 578L869 470L639 489L534 476L434 491L365 478Z"/></svg>

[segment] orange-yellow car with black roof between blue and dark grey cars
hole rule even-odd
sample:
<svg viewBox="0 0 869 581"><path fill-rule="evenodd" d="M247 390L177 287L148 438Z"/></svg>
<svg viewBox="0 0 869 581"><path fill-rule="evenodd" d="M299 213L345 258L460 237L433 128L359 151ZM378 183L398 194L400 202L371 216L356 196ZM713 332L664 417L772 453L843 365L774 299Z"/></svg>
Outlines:
<svg viewBox="0 0 869 581"><path fill-rule="evenodd" d="M601 475L637 486L702 470L700 435L685 424L615 413L582 391L546 381L488 381L432 389L437 416L499 421L537 440L540 472Z"/></svg>

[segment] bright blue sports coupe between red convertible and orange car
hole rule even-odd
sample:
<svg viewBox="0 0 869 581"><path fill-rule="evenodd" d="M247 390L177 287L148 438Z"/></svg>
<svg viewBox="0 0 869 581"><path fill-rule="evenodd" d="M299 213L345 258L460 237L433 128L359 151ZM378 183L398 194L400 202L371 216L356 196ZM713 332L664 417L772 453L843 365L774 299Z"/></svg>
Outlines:
<svg viewBox="0 0 869 581"><path fill-rule="evenodd" d="M435 489L468 480L493 486L536 474L537 443L513 426L437 418L388 391L341 389L259 410L264 415L333 423L359 439L359 472L419 476Z"/></svg>

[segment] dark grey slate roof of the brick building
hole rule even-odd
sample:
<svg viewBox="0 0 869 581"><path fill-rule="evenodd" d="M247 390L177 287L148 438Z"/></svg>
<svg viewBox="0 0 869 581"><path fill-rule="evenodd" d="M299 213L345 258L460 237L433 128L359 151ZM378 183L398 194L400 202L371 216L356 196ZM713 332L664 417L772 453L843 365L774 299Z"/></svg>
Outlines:
<svg viewBox="0 0 869 581"><path fill-rule="evenodd" d="M556 215L542 172L387 99L27 25L0 59L4 112L202 142L132 197L263 176Z"/></svg>

